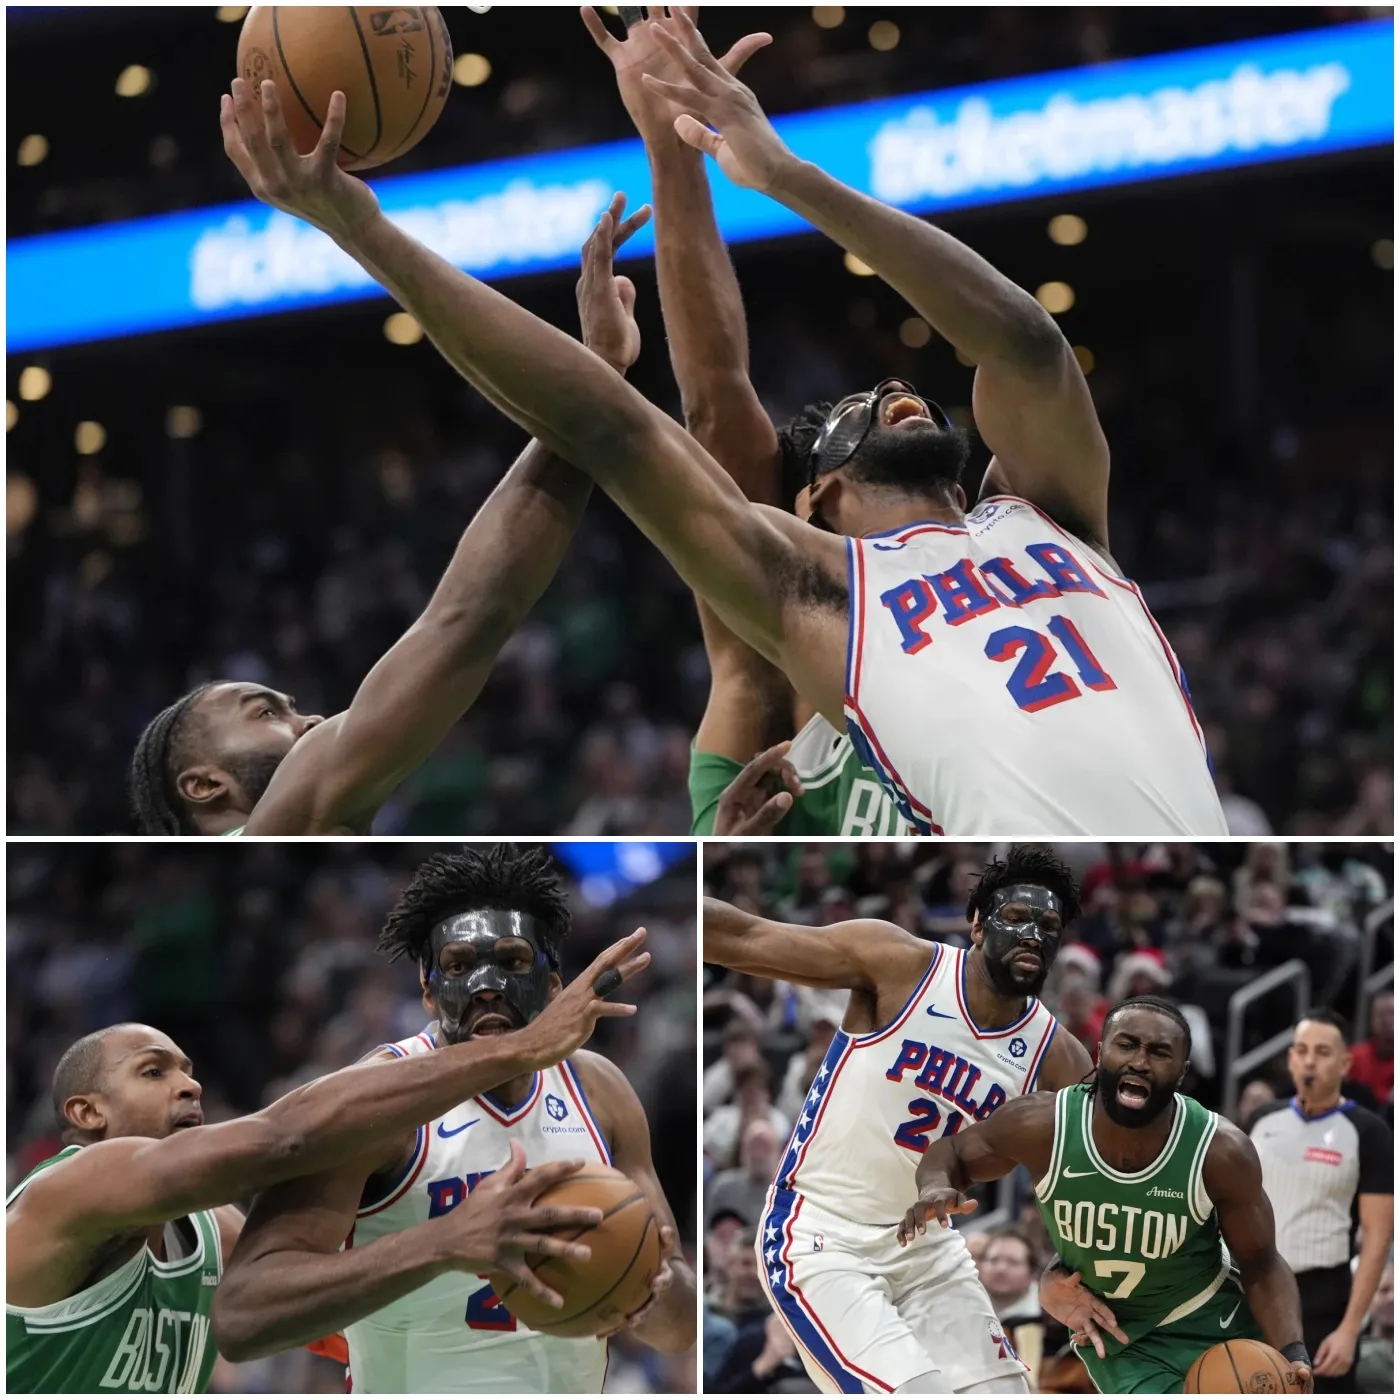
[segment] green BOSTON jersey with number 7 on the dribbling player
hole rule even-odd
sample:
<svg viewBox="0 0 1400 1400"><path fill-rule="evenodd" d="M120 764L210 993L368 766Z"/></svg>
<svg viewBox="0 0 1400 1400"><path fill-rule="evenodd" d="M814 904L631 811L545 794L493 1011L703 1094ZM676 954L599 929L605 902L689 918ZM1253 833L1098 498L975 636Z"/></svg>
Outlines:
<svg viewBox="0 0 1400 1400"><path fill-rule="evenodd" d="M1054 1149L1036 1200L1065 1267L1109 1301L1130 1343L1204 1306L1231 1275L1201 1179L1215 1114L1177 1093L1158 1159L1116 1172L1093 1145L1091 1086L1061 1089L1054 1107ZM1103 1347L1109 1357L1124 1350L1107 1333Z"/></svg>

